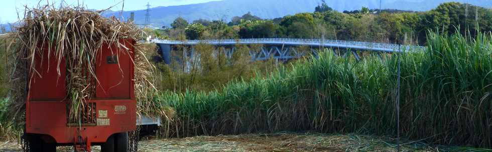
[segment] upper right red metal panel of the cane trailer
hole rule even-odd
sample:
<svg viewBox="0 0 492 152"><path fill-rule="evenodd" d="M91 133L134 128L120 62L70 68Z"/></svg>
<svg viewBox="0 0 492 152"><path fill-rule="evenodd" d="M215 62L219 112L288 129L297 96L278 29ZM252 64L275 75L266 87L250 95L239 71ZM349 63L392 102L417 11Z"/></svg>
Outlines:
<svg viewBox="0 0 492 152"><path fill-rule="evenodd" d="M130 40L120 40L125 47L104 45L96 56L96 98L133 98L134 47Z"/></svg>

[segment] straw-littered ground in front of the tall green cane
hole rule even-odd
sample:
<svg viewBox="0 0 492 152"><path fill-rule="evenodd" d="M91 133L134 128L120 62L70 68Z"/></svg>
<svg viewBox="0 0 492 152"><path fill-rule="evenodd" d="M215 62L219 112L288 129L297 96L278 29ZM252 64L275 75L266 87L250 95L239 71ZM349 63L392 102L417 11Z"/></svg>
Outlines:
<svg viewBox="0 0 492 152"><path fill-rule="evenodd" d="M275 133L196 136L152 139L139 144L139 151L396 151L393 138L356 134ZM402 151L448 151L419 141L402 141ZM21 151L17 142L0 142L0 151ZM58 147L58 151L73 151ZM100 151L93 146L93 151Z"/></svg>

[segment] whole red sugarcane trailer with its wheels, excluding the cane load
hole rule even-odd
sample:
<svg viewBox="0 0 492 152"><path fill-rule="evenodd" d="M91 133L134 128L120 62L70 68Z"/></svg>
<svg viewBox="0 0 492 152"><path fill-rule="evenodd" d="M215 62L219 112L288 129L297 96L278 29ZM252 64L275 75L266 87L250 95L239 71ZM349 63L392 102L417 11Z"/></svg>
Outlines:
<svg viewBox="0 0 492 152"><path fill-rule="evenodd" d="M103 44L97 53L97 80L87 79L95 85L95 94L79 109L77 122L68 116L71 101L66 90L66 58L58 61L54 51L47 47L40 50L43 53L33 60L36 71L31 71L36 73L29 74L32 76L27 84L28 151L56 151L60 145L74 145L76 150L85 151L90 151L91 145L101 145L102 151L129 150L128 132L136 129L135 41L119 42L125 46Z"/></svg>

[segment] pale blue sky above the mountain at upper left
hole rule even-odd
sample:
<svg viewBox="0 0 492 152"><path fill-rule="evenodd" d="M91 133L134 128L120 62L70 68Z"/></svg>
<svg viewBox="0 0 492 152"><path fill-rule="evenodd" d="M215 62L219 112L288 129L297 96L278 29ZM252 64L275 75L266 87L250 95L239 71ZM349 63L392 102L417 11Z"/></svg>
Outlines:
<svg viewBox="0 0 492 152"><path fill-rule="evenodd" d="M17 12L19 15L24 15L24 5L33 7L38 5L41 1L42 4L46 4L47 1L50 3L55 2L59 5L61 0L0 0L0 23L15 22L18 19ZM137 10L145 9L147 2L152 6L170 6L170 5L182 5L191 3L201 3L215 0L125 0L124 10ZM121 10L122 0L65 0L66 3L77 5L77 3L84 4L89 9L105 9L110 6L114 7L111 10ZM119 4L118 4L119 3Z"/></svg>

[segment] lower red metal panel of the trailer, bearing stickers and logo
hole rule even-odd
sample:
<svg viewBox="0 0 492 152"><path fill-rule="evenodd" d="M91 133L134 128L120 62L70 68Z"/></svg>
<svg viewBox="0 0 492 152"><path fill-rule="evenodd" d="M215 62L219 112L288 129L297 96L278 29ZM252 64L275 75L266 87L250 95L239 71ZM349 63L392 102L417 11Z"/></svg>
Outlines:
<svg viewBox="0 0 492 152"><path fill-rule="evenodd" d="M30 114L27 115L26 132L47 134L57 143L73 143L78 134L91 142L105 142L113 133L126 132L136 129L135 100L88 100L96 102L97 111L107 110L109 125L97 126L67 126L65 105L66 101L35 101L30 103ZM125 106L125 111L116 111L115 107ZM99 113L97 113L99 117ZM104 117L103 117L104 118Z"/></svg>

